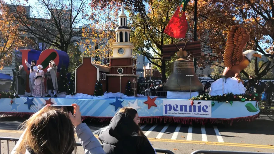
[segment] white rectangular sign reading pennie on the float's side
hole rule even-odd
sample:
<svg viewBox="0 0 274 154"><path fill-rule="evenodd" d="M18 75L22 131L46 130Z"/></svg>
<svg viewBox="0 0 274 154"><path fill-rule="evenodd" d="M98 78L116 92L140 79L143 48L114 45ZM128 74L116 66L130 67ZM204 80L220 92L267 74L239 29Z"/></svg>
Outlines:
<svg viewBox="0 0 274 154"><path fill-rule="evenodd" d="M163 116L211 117L210 101L163 100Z"/></svg>

